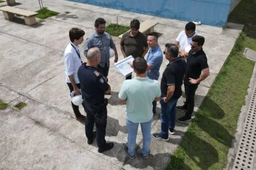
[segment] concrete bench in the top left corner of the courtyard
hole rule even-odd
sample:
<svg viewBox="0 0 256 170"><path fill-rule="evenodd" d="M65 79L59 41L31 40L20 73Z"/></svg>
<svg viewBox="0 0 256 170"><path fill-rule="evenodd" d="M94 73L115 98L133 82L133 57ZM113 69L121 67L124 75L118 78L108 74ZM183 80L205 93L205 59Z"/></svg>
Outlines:
<svg viewBox="0 0 256 170"><path fill-rule="evenodd" d="M38 13L33 11L27 11L24 9L14 8L11 6L0 7L0 11L2 11L4 18L7 20L13 19L15 17L15 14L17 14L24 17L26 25L33 25L37 23L36 15L38 15Z"/></svg>

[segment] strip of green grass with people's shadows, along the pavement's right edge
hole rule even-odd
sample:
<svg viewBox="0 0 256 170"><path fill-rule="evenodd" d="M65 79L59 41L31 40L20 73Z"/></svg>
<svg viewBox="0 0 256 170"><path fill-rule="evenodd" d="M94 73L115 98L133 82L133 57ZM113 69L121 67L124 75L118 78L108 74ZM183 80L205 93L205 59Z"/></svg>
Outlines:
<svg viewBox="0 0 256 170"><path fill-rule="evenodd" d="M170 170L222 170L226 166L255 64L242 54L244 47L256 50L254 9L256 1L242 0L230 14L230 22L245 24L244 32L236 40L196 118L172 156Z"/></svg>

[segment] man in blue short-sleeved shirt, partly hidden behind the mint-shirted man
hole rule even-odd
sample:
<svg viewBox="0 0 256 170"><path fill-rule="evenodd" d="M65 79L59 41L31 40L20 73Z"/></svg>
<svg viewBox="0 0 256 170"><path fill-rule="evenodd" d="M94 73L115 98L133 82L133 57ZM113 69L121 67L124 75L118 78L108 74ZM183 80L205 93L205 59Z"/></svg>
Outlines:
<svg viewBox="0 0 256 170"><path fill-rule="evenodd" d="M160 49L160 46L158 45L158 34L157 33L150 33L148 34L148 46L150 47L150 50L148 52L147 56L147 76L150 79L158 80L159 78L159 69L161 67L162 61L163 61L163 54ZM157 109L157 102L153 101L153 113L156 113Z"/></svg>

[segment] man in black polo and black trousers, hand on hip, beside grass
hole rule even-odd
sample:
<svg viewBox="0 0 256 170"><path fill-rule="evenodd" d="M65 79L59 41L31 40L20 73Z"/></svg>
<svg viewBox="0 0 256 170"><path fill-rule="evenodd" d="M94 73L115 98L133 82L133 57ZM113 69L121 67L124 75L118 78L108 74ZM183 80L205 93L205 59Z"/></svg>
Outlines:
<svg viewBox="0 0 256 170"><path fill-rule="evenodd" d="M177 110L184 110L186 114L184 117L178 119L179 122L191 120L191 115L194 111L197 86L210 75L207 57L202 48L203 44L203 36L196 35L192 38L191 51L189 51L187 57L186 74L183 79L186 102L183 106L177 106Z"/></svg>

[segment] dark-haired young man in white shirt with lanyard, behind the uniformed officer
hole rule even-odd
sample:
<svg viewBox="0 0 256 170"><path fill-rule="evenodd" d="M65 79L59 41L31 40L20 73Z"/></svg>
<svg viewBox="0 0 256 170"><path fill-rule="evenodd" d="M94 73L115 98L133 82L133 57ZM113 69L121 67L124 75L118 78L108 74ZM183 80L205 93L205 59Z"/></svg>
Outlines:
<svg viewBox="0 0 256 170"><path fill-rule="evenodd" d="M72 28L69 31L70 43L67 45L64 52L64 65L65 65L65 74L66 74L66 83L72 91L75 92L75 95L80 94L80 83L78 79L78 69L82 64L81 51L79 46L83 42L84 31L79 28ZM81 115L79 111L79 106L72 104L73 111L76 115L76 119L79 121L85 121L85 116Z"/></svg>

